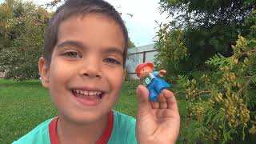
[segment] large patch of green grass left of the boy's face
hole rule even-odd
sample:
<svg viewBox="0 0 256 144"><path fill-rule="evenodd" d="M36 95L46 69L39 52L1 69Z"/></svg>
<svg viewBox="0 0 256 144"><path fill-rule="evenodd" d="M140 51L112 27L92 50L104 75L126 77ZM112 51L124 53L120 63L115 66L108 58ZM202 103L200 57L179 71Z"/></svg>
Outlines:
<svg viewBox="0 0 256 144"><path fill-rule="evenodd" d="M10 143L56 115L40 82L0 80L0 143Z"/></svg>

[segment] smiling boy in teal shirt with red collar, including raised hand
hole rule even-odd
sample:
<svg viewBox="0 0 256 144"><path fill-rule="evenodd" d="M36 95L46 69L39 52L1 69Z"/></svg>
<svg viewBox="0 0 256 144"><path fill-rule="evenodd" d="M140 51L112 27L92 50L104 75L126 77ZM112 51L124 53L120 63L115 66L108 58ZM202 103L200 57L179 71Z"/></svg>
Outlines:
<svg viewBox="0 0 256 144"><path fill-rule="evenodd" d="M126 26L109 3L66 1L50 20L38 62L58 117L14 143L174 143L179 115L170 91L163 91L167 102L150 103L146 87L138 86L137 121L112 110L125 78L127 43Z"/></svg>

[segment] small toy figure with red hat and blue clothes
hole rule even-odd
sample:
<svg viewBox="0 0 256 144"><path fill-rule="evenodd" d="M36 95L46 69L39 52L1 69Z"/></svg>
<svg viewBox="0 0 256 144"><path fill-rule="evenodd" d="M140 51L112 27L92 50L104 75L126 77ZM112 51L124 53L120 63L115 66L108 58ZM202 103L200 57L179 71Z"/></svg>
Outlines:
<svg viewBox="0 0 256 144"><path fill-rule="evenodd" d="M166 74L166 70L154 70L154 63L146 62L141 63L136 68L136 74L138 78L143 81L143 85L150 90L151 102L166 102L166 98L162 96L162 90L169 88L170 84L167 83L163 77Z"/></svg>

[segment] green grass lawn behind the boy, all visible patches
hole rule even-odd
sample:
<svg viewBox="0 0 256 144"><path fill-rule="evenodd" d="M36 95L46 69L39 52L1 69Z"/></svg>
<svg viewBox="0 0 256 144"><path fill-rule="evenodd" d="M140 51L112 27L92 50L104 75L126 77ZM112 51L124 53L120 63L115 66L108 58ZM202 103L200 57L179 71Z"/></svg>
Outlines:
<svg viewBox="0 0 256 144"><path fill-rule="evenodd" d="M138 84L138 81L124 83L114 110L135 117L135 90ZM186 103L180 100L178 105L181 116L185 115ZM56 115L50 94L39 81L14 82L0 79L0 143L11 143Z"/></svg>

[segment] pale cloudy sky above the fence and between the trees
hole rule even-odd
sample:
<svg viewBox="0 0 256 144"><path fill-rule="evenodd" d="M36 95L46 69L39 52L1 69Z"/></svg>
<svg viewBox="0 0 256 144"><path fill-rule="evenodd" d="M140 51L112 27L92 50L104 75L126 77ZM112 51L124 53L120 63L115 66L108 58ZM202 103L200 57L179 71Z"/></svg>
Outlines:
<svg viewBox="0 0 256 144"><path fill-rule="evenodd" d="M51 0L26 0L43 5ZM154 43L158 31L158 23L170 22L168 14L160 14L158 10L160 0L106 0L110 2L118 12L122 13L122 19L126 22L129 37L135 46L145 46ZM0 0L0 3L4 0ZM129 14L133 16L130 17ZM157 21L157 22L155 22Z"/></svg>

